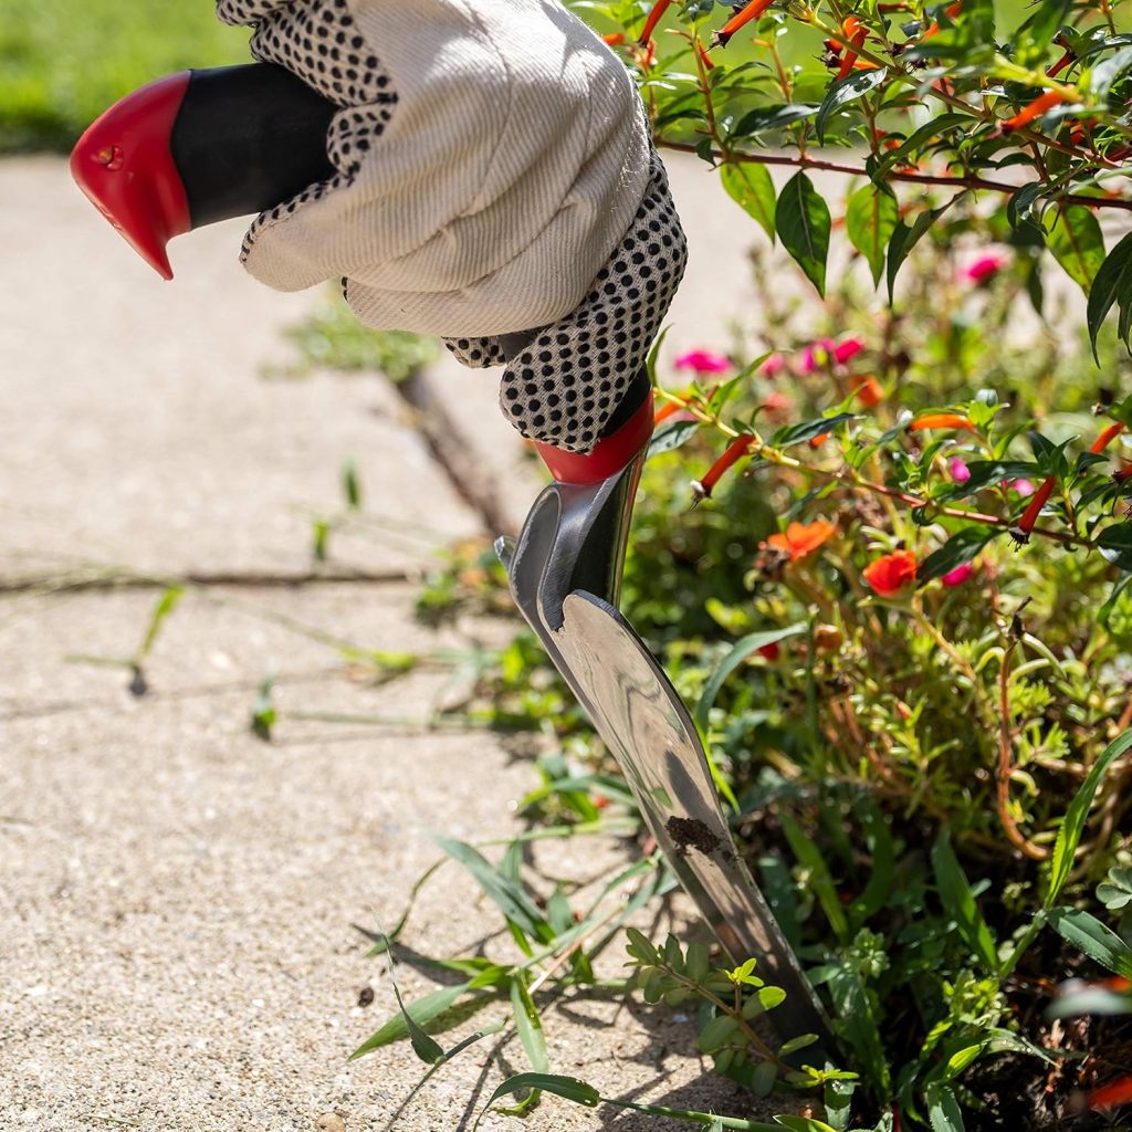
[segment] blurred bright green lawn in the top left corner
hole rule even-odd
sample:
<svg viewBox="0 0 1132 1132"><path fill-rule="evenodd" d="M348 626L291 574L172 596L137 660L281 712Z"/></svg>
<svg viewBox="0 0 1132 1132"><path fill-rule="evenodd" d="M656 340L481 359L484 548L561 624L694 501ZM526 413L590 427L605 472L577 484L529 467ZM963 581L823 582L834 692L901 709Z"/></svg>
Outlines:
<svg viewBox="0 0 1132 1132"><path fill-rule="evenodd" d="M247 43L209 0L0 0L0 153L69 149L122 95Z"/></svg>

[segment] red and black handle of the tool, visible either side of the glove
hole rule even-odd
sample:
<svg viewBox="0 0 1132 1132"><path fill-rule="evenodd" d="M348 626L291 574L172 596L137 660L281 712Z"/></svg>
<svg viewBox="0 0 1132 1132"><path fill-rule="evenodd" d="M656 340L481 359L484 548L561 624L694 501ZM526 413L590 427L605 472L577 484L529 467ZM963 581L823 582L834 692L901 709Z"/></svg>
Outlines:
<svg viewBox="0 0 1132 1132"><path fill-rule="evenodd" d="M71 154L71 173L98 211L164 278L166 246L205 224L272 208L334 168L326 135L337 108L267 63L182 71L111 106ZM616 474L649 443L652 394L643 375L588 455L539 444L564 483Z"/></svg>

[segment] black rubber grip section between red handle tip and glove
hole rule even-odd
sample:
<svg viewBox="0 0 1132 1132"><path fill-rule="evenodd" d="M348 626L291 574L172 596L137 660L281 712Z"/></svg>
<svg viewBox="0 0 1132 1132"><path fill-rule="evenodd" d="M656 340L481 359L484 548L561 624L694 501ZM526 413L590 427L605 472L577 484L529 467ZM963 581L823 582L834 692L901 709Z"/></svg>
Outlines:
<svg viewBox="0 0 1132 1132"><path fill-rule="evenodd" d="M282 67L195 70L170 135L194 228L288 200L335 170L326 131L337 108Z"/></svg>

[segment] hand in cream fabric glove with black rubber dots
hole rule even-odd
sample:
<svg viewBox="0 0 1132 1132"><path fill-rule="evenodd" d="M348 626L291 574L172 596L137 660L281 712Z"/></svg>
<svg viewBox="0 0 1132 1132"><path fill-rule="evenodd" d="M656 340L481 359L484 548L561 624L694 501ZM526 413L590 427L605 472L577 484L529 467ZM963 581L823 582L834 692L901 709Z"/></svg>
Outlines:
<svg viewBox="0 0 1132 1132"><path fill-rule="evenodd" d="M638 378L686 246L621 62L557 0L217 0L252 53L342 108L337 170L242 259L358 317L507 365L524 436L589 452ZM521 333L522 332L522 333Z"/></svg>

